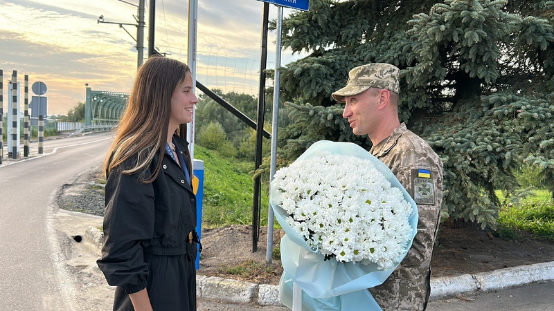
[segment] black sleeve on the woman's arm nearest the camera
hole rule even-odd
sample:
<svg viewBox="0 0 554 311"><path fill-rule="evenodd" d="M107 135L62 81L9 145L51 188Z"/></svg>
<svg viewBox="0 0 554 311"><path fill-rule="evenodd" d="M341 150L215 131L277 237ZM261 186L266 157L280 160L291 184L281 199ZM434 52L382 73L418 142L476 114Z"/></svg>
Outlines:
<svg viewBox="0 0 554 311"><path fill-rule="evenodd" d="M97 261L107 282L128 294L146 288L143 249L154 232L154 189L137 176L113 171L106 182L104 245Z"/></svg>

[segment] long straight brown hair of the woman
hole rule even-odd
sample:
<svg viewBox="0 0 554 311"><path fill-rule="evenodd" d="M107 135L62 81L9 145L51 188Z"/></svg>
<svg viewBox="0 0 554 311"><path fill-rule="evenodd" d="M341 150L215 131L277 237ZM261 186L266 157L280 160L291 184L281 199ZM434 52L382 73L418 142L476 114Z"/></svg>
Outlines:
<svg viewBox="0 0 554 311"><path fill-rule="evenodd" d="M121 173L142 171L158 154L160 160L156 169L141 180L149 183L157 178L166 152L171 96L184 82L187 72L190 73L190 68L186 64L166 57L153 56L141 65L127 109L116 127L116 138L106 155L106 175L133 157L136 160L130 166L122 166Z"/></svg>

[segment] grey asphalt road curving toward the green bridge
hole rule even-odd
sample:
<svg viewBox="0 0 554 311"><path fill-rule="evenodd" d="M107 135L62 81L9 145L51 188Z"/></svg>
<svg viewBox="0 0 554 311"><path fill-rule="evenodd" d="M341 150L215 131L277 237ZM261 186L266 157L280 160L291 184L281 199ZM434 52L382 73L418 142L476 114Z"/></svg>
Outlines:
<svg viewBox="0 0 554 311"><path fill-rule="evenodd" d="M53 227L52 203L64 183L98 167L109 142L109 133L47 140L44 156L3 161L0 310L79 310L78 292ZM37 149L36 143L30 149Z"/></svg>

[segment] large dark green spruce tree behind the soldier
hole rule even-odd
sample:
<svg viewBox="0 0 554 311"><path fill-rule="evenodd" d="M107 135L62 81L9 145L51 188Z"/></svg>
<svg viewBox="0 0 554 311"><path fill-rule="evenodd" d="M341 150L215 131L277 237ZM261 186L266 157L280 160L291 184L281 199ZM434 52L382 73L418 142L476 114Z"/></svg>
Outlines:
<svg viewBox="0 0 554 311"><path fill-rule="evenodd" d="M281 69L293 124L279 146L296 159L316 140L352 135L330 94L348 70L401 69L400 117L445 164L443 214L495 225L495 189L535 164L554 191L554 1L312 0L283 21L283 47L310 53ZM554 194L554 192L553 192Z"/></svg>

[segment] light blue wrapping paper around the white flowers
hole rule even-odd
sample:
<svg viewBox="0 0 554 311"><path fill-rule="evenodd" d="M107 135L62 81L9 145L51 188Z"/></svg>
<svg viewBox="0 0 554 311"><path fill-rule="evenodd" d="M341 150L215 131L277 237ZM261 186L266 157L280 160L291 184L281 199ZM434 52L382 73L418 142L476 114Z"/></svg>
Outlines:
<svg viewBox="0 0 554 311"><path fill-rule="evenodd" d="M393 187L402 190L404 198L413 208L409 218L413 236L406 247L406 253L404 253L406 256L413 237L418 232L418 208L391 170L368 151L351 142L330 142L328 140L315 142L302 156L298 157L297 161L316 156L319 151L368 159L391 182ZM271 185L271 198L274 197L274 191L276 189ZM285 271L279 285L281 303L292 308L292 284L294 282L303 291L303 311L381 310L367 289L382 284L397 266L384 271L378 270L376 264L339 263L334 258L325 261L318 249L312 249L304 238L288 225L285 221L285 218L288 217L287 212L275 205L271 198L271 207L275 212L275 217L285 231L285 236L280 243L281 263Z"/></svg>

